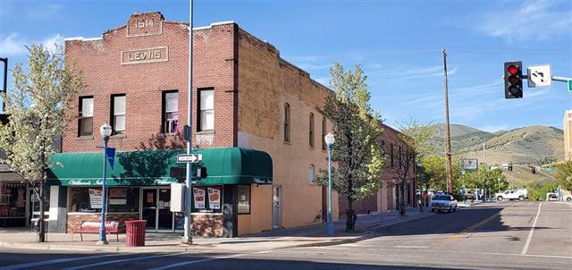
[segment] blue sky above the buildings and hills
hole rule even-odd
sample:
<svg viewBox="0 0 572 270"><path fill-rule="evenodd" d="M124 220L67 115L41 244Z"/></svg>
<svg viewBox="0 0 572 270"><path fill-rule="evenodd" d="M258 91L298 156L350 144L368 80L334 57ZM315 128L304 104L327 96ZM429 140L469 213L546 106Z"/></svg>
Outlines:
<svg viewBox="0 0 572 270"><path fill-rule="evenodd" d="M0 56L26 62L24 44L99 37L133 12L188 21L188 1L0 2ZM235 21L290 63L328 84L329 67L361 64L386 122L444 122L441 48L448 51L450 121L485 131L562 128L572 93L564 82L504 99L503 62L550 63L572 77L572 1L196 0L195 26ZM11 68L10 67L10 68ZM525 82L526 84L526 82ZM9 86L10 88L10 86Z"/></svg>

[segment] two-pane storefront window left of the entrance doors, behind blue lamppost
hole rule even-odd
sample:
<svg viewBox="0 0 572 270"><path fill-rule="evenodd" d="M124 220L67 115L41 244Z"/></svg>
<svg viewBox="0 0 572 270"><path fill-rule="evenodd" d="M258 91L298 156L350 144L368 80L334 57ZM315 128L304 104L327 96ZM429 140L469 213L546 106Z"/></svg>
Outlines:
<svg viewBox="0 0 572 270"><path fill-rule="evenodd" d="M99 213L101 188L71 188L70 212ZM139 188L107 188L107 212L139 212Z"/></svg>

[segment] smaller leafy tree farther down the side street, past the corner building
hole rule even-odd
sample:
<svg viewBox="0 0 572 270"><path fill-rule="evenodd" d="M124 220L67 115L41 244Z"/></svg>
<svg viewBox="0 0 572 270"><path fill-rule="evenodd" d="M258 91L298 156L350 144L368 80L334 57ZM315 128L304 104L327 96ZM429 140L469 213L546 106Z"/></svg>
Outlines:
<svg viewBox="0 0 572 270"><path fill-rule="evenodd" d="M400 187L400 215L405 215L405 186L408 178L415 176L417 162L422 156L433 152L433 146L429 139L433 136L433 125L419 122L410 118L406 121L397 122L400 131L400 139L406 146L400 148L397 154L397 166L393 168L398 175L393 184ZM418 174L418 173L417 173ZM425 181L425 178L421 178Z"/></svg>

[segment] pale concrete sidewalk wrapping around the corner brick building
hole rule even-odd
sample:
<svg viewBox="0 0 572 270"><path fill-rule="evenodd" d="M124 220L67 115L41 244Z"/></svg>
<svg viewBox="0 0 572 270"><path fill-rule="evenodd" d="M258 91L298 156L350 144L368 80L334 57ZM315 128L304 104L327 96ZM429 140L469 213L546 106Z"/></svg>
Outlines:
<svg viewBox="0 0 572 270"><path fill-rule="evenodd" d="M299 228L274 230L237 238L206 238L193 237L193 245L181 245L181 234L177 233L147 233L145 247L125 247L125 234L110 235L108 245L97 245L97 234L84 234L71 238L70 233L47 233L47 241L38 243L37 234L29 230L0 229L1 249L50 249L75 251L105 251L105 252L177 252L187 250L218 250L226 252L247 252L265 249L285 249L294 247L329 246L374 237L371 229L407 222L426 215L432 215L425 209L419 213L419 208L410 209L405 216L398 211L383 215L357 215L356 232L344 232L345 218L334 222L334 237L327 237L327 224L308 225ZM380 222L381 218L381 222Z"/></svg>

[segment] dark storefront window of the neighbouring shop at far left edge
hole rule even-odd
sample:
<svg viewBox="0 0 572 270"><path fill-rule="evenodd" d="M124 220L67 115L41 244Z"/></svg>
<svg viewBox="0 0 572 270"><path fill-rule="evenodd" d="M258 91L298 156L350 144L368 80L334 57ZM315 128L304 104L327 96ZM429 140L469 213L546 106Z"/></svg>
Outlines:
<svg viewBox="0 0 572 270"><path fill-rule="evenodd" d="M3 182L0 184L0 218L26 216L26 184Z"/></svg>

